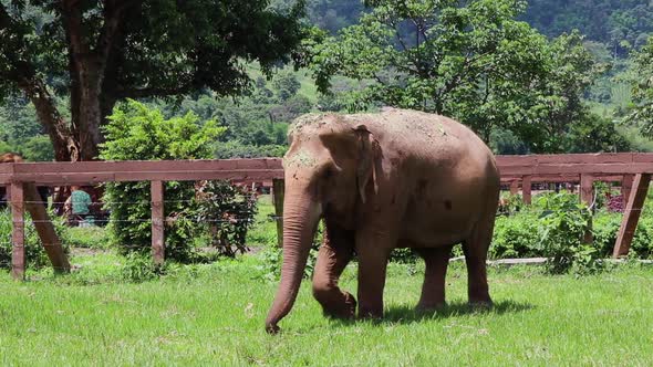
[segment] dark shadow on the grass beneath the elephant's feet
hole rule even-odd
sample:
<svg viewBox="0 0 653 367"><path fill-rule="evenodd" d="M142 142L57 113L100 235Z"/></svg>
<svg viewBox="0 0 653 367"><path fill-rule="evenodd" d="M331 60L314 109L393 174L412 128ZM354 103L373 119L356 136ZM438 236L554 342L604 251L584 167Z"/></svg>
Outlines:
<svg viewBox="0 0 653 367"><path fill-rule="evenodd" d="M521 303L515 301L499 301L493 307L475 307L467 303L458 302L446 305L437 311L417 311L411 306L390 307L385 311L383 318L374 321L374 324L412 324L428 319L444 319L450 317L458 317L464 315L501 315L508 313L519 313L532 310L535 306L529 303ZM355 319L334 319L334 325L354 325Z"/></svg>

